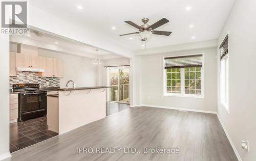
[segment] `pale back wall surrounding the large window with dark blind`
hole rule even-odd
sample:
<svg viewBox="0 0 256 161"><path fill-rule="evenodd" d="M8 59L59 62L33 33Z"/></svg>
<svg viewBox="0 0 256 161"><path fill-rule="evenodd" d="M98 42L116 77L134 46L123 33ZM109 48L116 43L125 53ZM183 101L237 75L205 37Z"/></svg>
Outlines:
<svg viewBox="0 0 256 161"><path fill-rule="evenodd" d="M204 63L204 98L187 98L163 96L163 57L185 55L191 53L205 53ZM167 106L171 108L184 108L203 111L217 111L217 49L190 50L175 53L140 56L137 66L140 66L141 104ZM136 82L139 87L138 82ZM137 91L138 92L138 91ZM150 96L150 99L148 99ZM139 103L137 100L136 103Z"/></svg>

